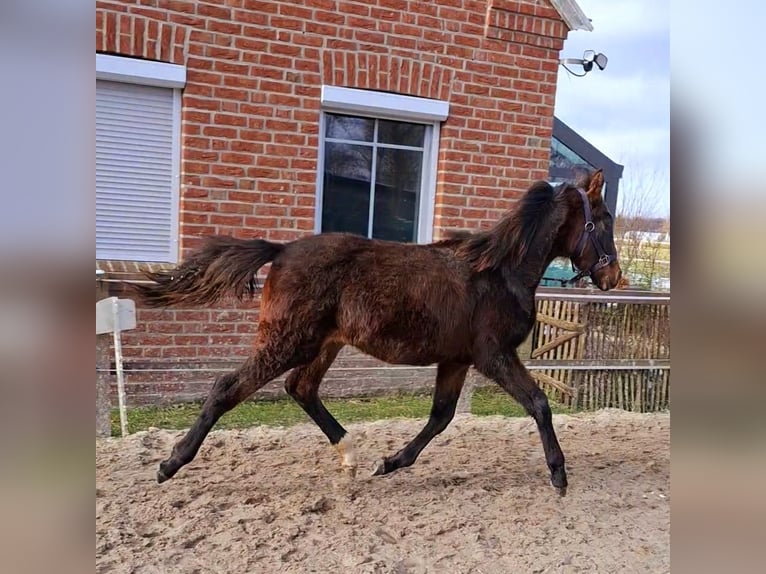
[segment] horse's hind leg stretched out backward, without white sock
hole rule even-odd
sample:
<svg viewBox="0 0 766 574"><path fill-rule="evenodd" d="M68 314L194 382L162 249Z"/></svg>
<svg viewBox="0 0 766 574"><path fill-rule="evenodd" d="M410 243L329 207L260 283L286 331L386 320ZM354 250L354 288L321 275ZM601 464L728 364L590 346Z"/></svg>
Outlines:
<svg viewBox="0 0 766 574"><path fill-rule="evenodd" d="M261 339L255 354L242 366L218 377L202 405L197 420L173 447L170 457L160 463L157 482L163 483L190 463L197 455L205 437L221 416L247 399L272 379L278 377L296 364L304 362L295 352L295 347L284 340Z"/></svg>

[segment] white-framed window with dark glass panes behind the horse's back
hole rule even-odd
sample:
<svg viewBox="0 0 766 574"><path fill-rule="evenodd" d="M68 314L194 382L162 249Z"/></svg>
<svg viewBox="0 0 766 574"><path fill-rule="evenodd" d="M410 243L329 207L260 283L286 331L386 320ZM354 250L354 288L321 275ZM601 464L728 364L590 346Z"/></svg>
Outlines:
<svg viewBox="0 0 766 574"><path fill-rule="evenodd" d="M325 86L322 107L316 231L431 241L448 104Z"/></svg>

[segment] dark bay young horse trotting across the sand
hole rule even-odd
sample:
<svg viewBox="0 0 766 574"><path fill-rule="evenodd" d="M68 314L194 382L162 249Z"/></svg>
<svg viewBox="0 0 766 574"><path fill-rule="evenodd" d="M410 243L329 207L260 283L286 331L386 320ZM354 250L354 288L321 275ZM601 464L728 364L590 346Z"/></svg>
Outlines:
<svg viewBox="0 0 766 574"><path fill-rule="evenodd" d="M437 364L433 405L423 430L375 468L410 466L452 420L471 365L516 399L537 423L551 482L566 492L564 455L545 393L516 347L536 319L535 290L556 257L568 257L600 289L621 277L612 215L597 170L579 185L533 184L487 231L460 232L427 245L327 233L279 244L214 236L176 269L137 286L150 307L209 305L256 292L267 263L252 355L218 377L199 417L157 472L164 482L188 464L225 412L292 369L285 388L356 468L346 430L319 399L319 385L344 345L391 364Z"/></svg>

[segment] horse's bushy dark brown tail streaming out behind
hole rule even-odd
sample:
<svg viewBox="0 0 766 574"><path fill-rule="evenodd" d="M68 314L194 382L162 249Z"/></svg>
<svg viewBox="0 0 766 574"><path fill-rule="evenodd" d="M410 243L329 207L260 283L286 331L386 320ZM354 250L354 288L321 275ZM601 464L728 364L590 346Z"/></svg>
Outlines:
<svg viewBox="0 0 766 574"><path fill-rule="evenodd" d="M284 245L263 239L212 236L175 269L146 273L153 284L133 285L147 307L210 305L227 295L252 297L255 274Z"/></svg>

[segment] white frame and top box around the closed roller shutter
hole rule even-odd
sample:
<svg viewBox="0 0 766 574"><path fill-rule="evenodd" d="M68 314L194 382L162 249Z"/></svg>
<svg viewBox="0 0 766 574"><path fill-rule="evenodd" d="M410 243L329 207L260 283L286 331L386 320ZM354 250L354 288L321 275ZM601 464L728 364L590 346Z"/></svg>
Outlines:
<svg viewBox="0 0 766 574"><path fill-rule="evenodd" d="M171 214L168 261L178 263L181 202L181 90L186 86L186 66L96 54L96 79L173 90L173 139L171 143ZM109 259L109 257L104 257Z"/></svg>

